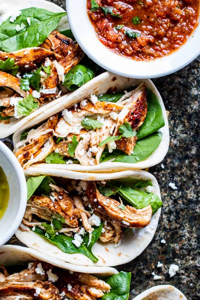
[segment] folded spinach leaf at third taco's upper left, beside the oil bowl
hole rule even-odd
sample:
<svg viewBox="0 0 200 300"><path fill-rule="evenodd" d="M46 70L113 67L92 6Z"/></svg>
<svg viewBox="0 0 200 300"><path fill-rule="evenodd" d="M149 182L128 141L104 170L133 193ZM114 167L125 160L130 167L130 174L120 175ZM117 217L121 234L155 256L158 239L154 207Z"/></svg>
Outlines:
<svg viewBox="0 0 200 300"><path fill-rule="evenodd" d="M51 188L49 187L50 183L55 184L55 181L46 175L29 177L26 182L27 200L29 200L34 193L36 193L36 195L48 195L51 192Z"/></svg>

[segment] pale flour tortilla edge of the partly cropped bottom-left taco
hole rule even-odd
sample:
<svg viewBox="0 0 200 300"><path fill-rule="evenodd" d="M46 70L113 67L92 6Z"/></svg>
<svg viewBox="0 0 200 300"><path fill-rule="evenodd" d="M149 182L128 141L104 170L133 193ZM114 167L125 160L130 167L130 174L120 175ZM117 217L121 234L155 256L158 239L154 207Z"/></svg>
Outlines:
<svg viewBox="0 0 200 300"><path fill-rule="evenodd" d="M0 248L0 265L3 266L25 264L38 260L48 262L56 267L69 271L97 274L100 277L111 276L118 273L115 268L110 267L84 267L73 265L27 247L4 245Z"/></svg>

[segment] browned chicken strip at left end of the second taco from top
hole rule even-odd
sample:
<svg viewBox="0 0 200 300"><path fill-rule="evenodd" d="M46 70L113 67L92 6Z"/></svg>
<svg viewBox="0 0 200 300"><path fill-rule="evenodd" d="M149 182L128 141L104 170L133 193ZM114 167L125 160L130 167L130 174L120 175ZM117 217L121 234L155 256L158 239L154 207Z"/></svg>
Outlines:
<svg viewBox="0 0 200 300"><path fill-rule="evenodd" d="M27 168L34 162L42 161L50 152L52 152L54 148L54 141L51 135L57 122L58 115L52 116L44 125L42 125L42 127L39 128L39 130L36 129L35 136L34 130L31 131L33 137L32 139L30 136L28 137L29 144L21 147L15 153L15 156L22 167ZM37 131L39 131L40 134L37 134Z"/></svg>

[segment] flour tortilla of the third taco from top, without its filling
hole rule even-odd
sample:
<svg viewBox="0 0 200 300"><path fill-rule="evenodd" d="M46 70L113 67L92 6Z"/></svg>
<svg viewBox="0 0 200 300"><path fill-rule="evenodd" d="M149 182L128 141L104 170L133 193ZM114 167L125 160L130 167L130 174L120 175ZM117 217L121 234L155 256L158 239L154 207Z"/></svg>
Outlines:
<svg viewBox="0 0 200 300"><path fill-rule="evenodd" d="M78 172L77 172L78 173ZM107 179L107 174L96 174L96 180ZM132 178L139 180L151 180L156 194L161 198L158 182L153 175L148 172L135 170L109 174L109 179ZM123 234L121 244L114 247L114 243L102 243L100 240L94 244L92 251L99 258L97 263L92 262L89 258L82 254L68 254L61 251L57 246L49 243L46 239L40 237L33 231L26 232L18 229L16 237L26 246L33 248L48 256L56 259L61 259L65 262L70 262L75 265L84 266L116 266L121 265L135 259L140 255L154 237L158 220L160 217L161 208L153 215L151 223L142 229L129 229Z"/></svg>

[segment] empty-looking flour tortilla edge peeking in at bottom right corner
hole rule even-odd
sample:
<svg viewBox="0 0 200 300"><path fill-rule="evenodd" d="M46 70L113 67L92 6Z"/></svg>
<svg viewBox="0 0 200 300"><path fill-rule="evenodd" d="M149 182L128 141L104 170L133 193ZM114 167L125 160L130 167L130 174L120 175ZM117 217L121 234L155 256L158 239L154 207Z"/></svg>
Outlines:
<svg viewBox="0 0 200 300"><path fill-rule="evenodd" d="M133 300L187 300L185 295L172 285L158 285L142 292Z"/></svg>

